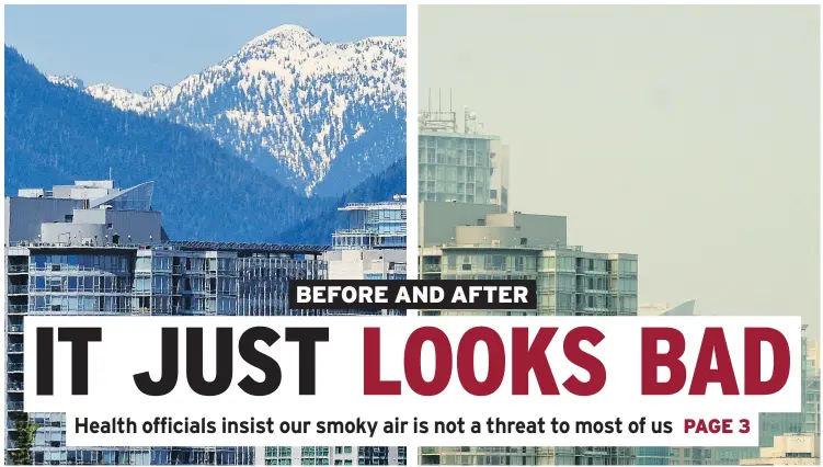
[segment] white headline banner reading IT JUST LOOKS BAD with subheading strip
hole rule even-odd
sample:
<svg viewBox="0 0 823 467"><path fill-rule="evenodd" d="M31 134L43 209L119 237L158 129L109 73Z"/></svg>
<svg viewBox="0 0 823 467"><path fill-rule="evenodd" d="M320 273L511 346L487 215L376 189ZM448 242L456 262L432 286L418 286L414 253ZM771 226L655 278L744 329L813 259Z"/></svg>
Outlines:
<svg viewBox="0 0 823 467"><path fill-rule="evenodd" d="M797 317L30 316L24 326L24 410L67 412L72 446L755 446L758 412L801 410ZM178 345L163 349L164 328ZM666 362L671 371L655 366Z"/></svg>

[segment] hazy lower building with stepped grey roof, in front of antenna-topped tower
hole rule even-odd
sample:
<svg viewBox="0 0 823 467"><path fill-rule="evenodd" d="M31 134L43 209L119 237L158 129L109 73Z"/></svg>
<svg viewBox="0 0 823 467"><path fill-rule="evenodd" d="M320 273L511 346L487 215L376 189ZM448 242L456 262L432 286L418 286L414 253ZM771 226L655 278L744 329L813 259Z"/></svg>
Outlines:
<svg viewBox="0 0 823 467"><path fill-rule="evenodd" d="M421 278L534 280L537 310L423 314L637 315L636 254L594 253L567 246L562 216L502 213L476 218L476 210L460 203L421 204ZM461 213L467 212L476 221L455 225L465 220Z"/></svg>

